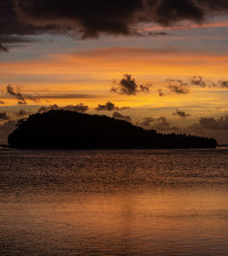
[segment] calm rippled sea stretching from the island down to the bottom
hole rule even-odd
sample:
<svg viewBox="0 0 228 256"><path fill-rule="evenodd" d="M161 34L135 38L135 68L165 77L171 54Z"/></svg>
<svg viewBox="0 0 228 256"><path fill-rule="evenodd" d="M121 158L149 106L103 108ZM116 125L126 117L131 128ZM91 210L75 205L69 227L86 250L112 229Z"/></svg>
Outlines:
<svg viewBox="0 0 228 256"><path fill-rule="evenodd" d="M0 150L0 255L228 255L228 150Z"/></svg>

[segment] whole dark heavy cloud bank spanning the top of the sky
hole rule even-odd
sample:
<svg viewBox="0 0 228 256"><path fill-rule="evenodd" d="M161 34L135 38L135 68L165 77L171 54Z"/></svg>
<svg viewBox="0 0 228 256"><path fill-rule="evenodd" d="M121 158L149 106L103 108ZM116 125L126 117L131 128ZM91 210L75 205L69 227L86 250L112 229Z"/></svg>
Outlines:
<svg viewBox="0 0 228 256"><path fill-rule="evenodd" d="M136 35L145 23L166 27L185 20L202 23L208 16L227 11L225 0L1 0L0 37L13 43L43 33L84 38Z"/></svg>

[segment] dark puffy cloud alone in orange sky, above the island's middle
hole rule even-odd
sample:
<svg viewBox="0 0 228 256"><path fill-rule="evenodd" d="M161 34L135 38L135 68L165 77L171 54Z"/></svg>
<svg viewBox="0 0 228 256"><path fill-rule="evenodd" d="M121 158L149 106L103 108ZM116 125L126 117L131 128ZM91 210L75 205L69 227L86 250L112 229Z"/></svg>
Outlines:
<svg viewBox="0 0 228 256"><path fill-rule="evenodd" d="M140 92L149 92L151 87L151 84L138 85L129 74L123 75L123 79L120 81L113 80L113 84L114 86L110 91L125 95L137 95Z"/></svg>

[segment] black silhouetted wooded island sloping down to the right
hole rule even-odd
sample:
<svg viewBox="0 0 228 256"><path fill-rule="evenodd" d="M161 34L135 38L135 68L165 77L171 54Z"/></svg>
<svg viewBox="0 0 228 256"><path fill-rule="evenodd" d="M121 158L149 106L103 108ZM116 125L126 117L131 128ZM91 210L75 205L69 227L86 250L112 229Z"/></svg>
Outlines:
<svg viewBox="0 0 228 256"><path fill-rule="evenodd" d="M217 142L181 133L158 133L103 115L49 111L30 115L9 134L14 148L214 148Z"/></svg>

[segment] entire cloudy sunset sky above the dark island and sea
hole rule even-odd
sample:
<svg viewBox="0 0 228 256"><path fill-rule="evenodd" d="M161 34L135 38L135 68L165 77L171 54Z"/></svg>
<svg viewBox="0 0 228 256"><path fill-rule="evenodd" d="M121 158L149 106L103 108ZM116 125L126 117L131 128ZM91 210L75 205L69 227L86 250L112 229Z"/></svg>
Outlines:
<svg viewBox="0 0 228 256"><path fill-rule="evenodd" d="M224 0L0 1L0 144L50 109L228 144Z"/></svg>

